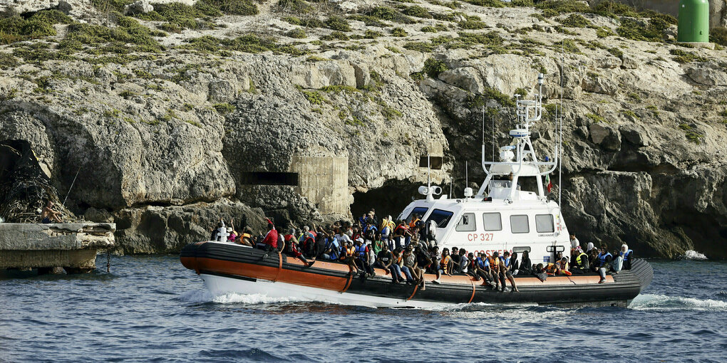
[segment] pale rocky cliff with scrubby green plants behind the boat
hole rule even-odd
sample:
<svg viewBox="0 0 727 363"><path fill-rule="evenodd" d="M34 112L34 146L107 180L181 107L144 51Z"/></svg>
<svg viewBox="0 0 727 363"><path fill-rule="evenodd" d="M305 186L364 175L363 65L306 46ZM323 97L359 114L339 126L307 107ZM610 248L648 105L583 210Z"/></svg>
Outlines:
<svg viewBox="0 0 727 363"><path fill-rule="evenodd" d="M60 193L80 170L67 205L115 221L127 252L178 250L220 217L401 208L427 152L460 190L483 110L484 142L507 142L511 96L542 72L543 152L563 77L571 231L727 256L727 52L672 43L670 17L575 1L61 2L1 19L0 141L29 142ZM336 160L348 176L326 199L315 179Z"/></svg>

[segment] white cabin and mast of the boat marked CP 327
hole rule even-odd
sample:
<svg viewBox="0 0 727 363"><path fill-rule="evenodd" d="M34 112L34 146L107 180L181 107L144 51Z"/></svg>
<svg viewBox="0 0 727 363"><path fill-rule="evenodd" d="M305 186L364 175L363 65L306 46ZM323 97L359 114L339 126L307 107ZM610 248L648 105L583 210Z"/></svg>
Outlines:
<svg viewBox="0 0 727 363"><path fill-rule="evenodd" d="M502 255L505 250L519 255L527 250L535 263L554 262L558 252L568 256L571 244L560 205L548 200L543 187L544 177L558 168L558 144L553 158L539 160L530 139L531 127L542 118L542 83L540 74L541 94L536 99L516 102L518 123L510 130L514 144L499 148L499 162L485 160L483 143L482 168L487 176L476 195L466 188L464 198L435 199L441 187L419 187L425 199L409 204L398 219L408 221L417 215L429 224L433 221L440 247L488 255L494 251ZM534 178L537 192L521 190L518 181L523 178Z"/></svg>

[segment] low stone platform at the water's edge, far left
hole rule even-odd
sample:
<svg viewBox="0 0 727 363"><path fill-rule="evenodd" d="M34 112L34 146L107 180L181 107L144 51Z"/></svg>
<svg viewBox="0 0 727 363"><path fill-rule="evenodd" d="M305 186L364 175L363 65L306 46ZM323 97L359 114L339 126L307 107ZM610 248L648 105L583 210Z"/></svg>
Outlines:
<svg viewBox="0 0 727 363"><path fill-rule="evenodd" d="M113 223L0 223L0 270L91 272L96 253L115 245Z"/></svg>

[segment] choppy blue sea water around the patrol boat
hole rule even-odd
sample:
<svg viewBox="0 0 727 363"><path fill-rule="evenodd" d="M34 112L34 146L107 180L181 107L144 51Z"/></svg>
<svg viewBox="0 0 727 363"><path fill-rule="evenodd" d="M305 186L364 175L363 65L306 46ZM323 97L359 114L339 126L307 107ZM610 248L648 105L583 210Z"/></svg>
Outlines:
<svg viewBox="0 0 727 363"><path fill-rule="evenodd" d="M627 309L212 296L177 256L0 280L0 361L725 362L727 263L650 261ZM102 267L103 266L103 267Z"/></svg>

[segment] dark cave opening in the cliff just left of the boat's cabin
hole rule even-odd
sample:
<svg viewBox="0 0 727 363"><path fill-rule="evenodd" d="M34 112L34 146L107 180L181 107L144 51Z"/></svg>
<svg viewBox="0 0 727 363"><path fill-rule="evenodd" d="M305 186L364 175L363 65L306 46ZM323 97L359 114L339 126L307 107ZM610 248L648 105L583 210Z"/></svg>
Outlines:
<svg viewBox="0 0 727 363"><path fill-rule="evenodd" d="M369 189L368 192L355 192L351 204L353 219L356 220L364 213L368 213L371 208L376 210L379 221L385 216L396 218L412 200L423 197L417 192L421 185L406 180L389 180L381 187Z"/></svg>

